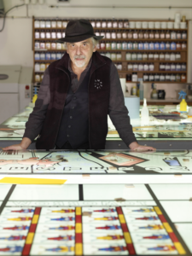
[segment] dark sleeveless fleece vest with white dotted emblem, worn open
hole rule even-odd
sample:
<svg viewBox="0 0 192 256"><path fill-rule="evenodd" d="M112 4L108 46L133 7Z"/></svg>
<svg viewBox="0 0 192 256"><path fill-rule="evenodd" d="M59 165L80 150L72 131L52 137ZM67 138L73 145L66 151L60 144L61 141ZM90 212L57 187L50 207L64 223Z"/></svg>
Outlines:
<svg viewBox="0 0 192 256"><path fill-rule="evenodd" d="M55 147L61 116L70 86L68 67L69 55L49 65L50 102L44 125L36 143L38 149ZM109 75L111 60L99 55L92 56L90 67L89 93L89 141L90 148L105 148L108 134Z"/></svg>

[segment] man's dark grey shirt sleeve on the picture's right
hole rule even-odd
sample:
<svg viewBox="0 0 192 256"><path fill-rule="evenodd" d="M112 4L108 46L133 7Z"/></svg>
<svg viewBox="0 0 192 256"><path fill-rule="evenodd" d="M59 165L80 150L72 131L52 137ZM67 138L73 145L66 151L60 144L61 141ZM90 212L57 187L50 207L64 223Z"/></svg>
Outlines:
<svg viewBox="0 0 192 256"><path fill-rule="evenodd" d="M132 131L128 110L125 107L125 99L121 88L119 74L113 62L110 71L110 97L108 106L108 115L113 122L119 137L129 147L137 139Z"/></svg>

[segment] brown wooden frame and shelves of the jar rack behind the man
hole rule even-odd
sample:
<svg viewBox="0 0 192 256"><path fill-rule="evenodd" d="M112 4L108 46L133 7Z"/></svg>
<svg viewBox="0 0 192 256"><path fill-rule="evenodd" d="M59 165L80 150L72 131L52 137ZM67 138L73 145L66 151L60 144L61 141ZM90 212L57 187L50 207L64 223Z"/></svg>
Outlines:
<svg viewBox="0 0 192 256"><path fill-rule="evenodd" d="M44 66L43 67L48 67L49 63L51 63L52 61L55 61L55 60L35 60L35 54L36 53L39 53L39 54L42 54L42 53L55 53L55 54L58 54L58 53L61 53L63 54L65 52L65 49L35 49L35 42L38 41L39 43L42 43L44 42L45 44L47 42L49 42L50 44L51 43L54 43L56 41L57 38L35 38L35 32L65 32L65 28L61 28L61 27L38 27L38 28L35 28L35 20L45 20L44 18L42 19L35 19L33 18L33 22L32 22L32 36L33 36L33 44L32 44L32 49L33 49L33 52L34 52L34 55L33 55L33 61L34 61L34 74L33 74L33 80L34 82L39 82L41 79L42 79L42 74L44 73L44 68L42 70L38 70L36 71L35 70L35 64L41 64L43 63ZM51 19L51 20L59 20L59 19ZM166 22L170 22L170 21L173 21L173 20L130 20L130 21L166 21ZM120 78L126 78L126 75L127 74L131 74L131 73L137 73L137 78L138 79L141 79L143 78L143 73L148 73L148 74L184 74L185 77L186 77L186 81L154 81L155 83L166 83L166 84L183 84L185 82L187 82L187 76L188 76L188 73L187 73L187 70L188 70L188 45L189 45L189 24L188 24L188 20L186 21L187 23L187 28L186 29L151 29L151 28L108 28L108 27L96 27L94 28L95 32L129 32L129 31L132 31L132 32L140 32L140 31L164 31L164 32L167 32L167 31L170 31L170 32L187 32L187 38L186 39L182 39L182 38L179 38L179 39L170 39L170 38L103 38L100 42L101 43L112 43L112 42L120 42L120 43L123 43L123 42L131 42L131 43L140 43L140 42L158 42L158 43L161 43L161 42L169 42L170 44L172 44L172 42L174 43L185 43L186 44L186 49L175 49L175 50L172 50L172 49L97 49L99 52L101 52L101 54L106 54L106 53L120 53L121 54L121 59L119 60L115 60L113 61L114 64L118 64L118 63L121 63L122 65L122 70L118 70L119 72L119 77ZM176 60L176 61L166 61L166 60L129 60L127 61L126 60L126 53L147 53L147 54L150 54L150 53L163 53L163 54L166 54L166 53L180 53L181 55L181 59L180 60ZM127 69L127 65L128 63L132 63L132 64L135 64L135 63L153 63L154 64L154 70L151 71L151 70L142 70L142 71L130 71ZM165 64L171 64L171 63L174 63L174 64L177 64L177 63L180 63L180 64L185 64L186 66L186 70L183 70L183 71L161 71L160 70L160 63L165 63ZM37 79L37 75L40 75L40 79L38 81ZM131 81L130 81L131 82ZM130 83L129 82L129 83ZM148 83L151 83L153 81L148 81ZM135 83L135 82L134 82Z"/></svg>

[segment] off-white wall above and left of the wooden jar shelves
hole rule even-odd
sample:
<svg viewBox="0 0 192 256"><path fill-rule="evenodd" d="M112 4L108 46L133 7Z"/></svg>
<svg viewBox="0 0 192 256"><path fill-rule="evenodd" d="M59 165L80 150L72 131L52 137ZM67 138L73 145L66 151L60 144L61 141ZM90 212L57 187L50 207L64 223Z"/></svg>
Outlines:
<svg viewBox="0 0 192 256"><path fill-rule="evenodd" d="M3 32L0 32L0 65L20 64L32 67L32 15L37 17L82 17L82 18L128 18L161 20L174 19L179 12L185 15L188 20L192 19L191 0L71 0L70 3L57 3L56 0L44 0L44 5L29 5L28 17L26 17L26 6L13 9L9 12ZM22 0L4 0L5 10L16 4L24 3ZM49 5L59 5L65 8L49 8ZM74 5L92 6L84 8L73 8ZM112 8L112 6L122 8ZM127 6L138 6L139 9L126 8ZM98 6L98 8L96 7ZM108 8L105 8L108 6ZM177 6L177 9L150 9L141 7L168 7ZM180 9L179 7L186 7ZM14 16L14 18L12 18ZM0 30L3 26L3 19L0 19ZM192 34L192 33L191 33ZM191 34L189 37L191 38ZM191 57L189 57L189 62ZM189 70L190 70L189 63ZM191 80L191 79L189 79Z"/></svg>

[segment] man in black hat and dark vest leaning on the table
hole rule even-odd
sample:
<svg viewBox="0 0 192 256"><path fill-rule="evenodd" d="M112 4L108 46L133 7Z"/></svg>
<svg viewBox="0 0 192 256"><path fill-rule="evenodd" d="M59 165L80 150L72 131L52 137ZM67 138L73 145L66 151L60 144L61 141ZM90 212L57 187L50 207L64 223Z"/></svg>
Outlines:
<svg viewBox="0 0 192 256"><path fill-rule="evenodd" d="M20 144L26 149L38 137L38 149L103 149L108 114L128 147L153 150L137 143L132 132L119 75L113 62L96 52L96 37L89 20L71 20L66 37L58 40L67 53L44 72L38 100Z"/></svg>

